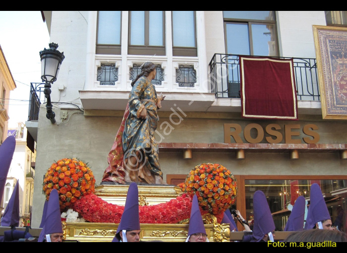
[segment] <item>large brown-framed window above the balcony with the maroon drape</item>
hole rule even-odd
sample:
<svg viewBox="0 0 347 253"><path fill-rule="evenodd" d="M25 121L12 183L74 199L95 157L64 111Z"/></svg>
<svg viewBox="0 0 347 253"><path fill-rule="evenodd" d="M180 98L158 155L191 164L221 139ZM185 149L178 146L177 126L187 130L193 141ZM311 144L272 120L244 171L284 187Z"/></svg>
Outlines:
<svg viewBox="0 0 347 253"><path fill-rule="evenodd" d="M226 52L278 56L274 11L223 11Z"/></svg>

